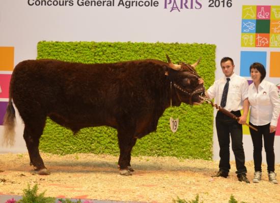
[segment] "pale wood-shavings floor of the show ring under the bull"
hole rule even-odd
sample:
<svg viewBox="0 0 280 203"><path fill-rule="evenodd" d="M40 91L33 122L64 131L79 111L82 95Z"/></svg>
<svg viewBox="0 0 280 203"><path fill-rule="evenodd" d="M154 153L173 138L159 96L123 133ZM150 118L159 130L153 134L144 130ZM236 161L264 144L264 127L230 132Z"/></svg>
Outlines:
<svg viewBox="0 0 280 203"><path fill-rule="evenodd" d="M228 202L231 195L238 202L280 202L280 184L268 182L267 173L263 173L260 183L251 182L253 161L245 163L251 182L246 184L237 180L234 161L230 176L225 179L211 178L217 172L218 161L132 157L135 172L125 177L119 175L116 156L42 153L42 158L51 172L49 176L35 174L27 153L0 154L0 171L4 171L0 173L0 194L22 195L27 184L38 184L38 193L46 191L45 196L93 199L100 203L172 202L177 197L189 201L197 194L199 202L204 203ZM264 164L263 171L266 167ZM280 164L275 165L275 171L280 173Z"/></svg>

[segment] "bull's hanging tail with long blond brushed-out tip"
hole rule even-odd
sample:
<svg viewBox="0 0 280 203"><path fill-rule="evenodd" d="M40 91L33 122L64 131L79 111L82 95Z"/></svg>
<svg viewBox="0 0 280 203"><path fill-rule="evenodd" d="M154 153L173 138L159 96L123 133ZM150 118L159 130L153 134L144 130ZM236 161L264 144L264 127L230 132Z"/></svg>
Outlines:
<svg viewBox="0 0 280 203"><path fill-rule="evenodd" d="M4 140L6 146L13 146L15 142L15 109L12 99L9 99L6 114L4 116Z"/></svg>

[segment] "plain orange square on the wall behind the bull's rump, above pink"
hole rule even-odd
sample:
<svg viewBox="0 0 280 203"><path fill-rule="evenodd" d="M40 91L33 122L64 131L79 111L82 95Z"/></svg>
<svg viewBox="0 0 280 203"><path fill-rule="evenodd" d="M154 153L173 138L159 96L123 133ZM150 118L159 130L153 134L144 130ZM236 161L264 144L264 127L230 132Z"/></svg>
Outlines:
<svg viewBox="0 0 280 203"><path fill-rule="evenodd" d="M14 47L0 47L0 71L14 70Z"/></svg>

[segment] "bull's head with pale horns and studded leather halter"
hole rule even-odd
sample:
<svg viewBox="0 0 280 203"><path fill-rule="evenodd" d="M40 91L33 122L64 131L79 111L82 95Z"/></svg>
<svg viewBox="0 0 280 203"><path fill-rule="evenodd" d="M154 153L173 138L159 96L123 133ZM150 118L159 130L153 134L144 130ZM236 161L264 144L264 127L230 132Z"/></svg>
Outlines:
<svg viewBox="0 0 280 203"><path fill-rule="evenodd" d="M166 57L172 69L168 73L168 76L174 87L172 87L172 89L175 90L179 100L190 105L203 103L205 87L203 83L199 84L200 76L195 71L195 66L199 64L200 59L190 65L183 62L174 64L171 62L169 56L166 55Z"/></svg>

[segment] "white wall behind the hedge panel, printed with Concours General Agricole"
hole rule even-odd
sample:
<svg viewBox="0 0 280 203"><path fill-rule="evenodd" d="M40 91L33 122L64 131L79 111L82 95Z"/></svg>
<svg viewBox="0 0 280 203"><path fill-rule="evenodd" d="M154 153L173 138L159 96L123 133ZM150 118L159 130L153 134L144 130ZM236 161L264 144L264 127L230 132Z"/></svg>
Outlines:
<svg viewBox="0 0 280 203"><path fill-rule="evenodd" d="M65 2L60 0L61 2ZM236 64L239 74L240 51L242 48L241 19L242 5L277 5L275 0L234 0L231 8L212 8L206 0L182 0L191 3L193 9L180 9L171 12L176 3L180 7L181 0L166 0L170 3L164 8L165 0L158 0L157 7L117 6L120 0L114 0L114 7L78 6L78 0L72 0L73 6L29 6L23 0L0 1L0 47L15 47L14 62L35 59L39 41L96 41L96 42L179 42L215 44L216 78L222 76L219 61L230 56ZM139 0L138 0L139 1ZM156 2L148 0L148 2ZM38 0L37 2L42 2ZM80 1L81 2L81 1ZM197 3L198 2L198 3ZM227 1L226 1L227 2ZM199 8L200 9L195 9ZM278 2L279 5L279 2ZM265 51L264 48L254 50ZM270 51L279 48L270 48ZM203 56L202 56L203 57ZM195 60L195 59L194 59ZM267 63L269 65L269 62ZM7 72L5 72L7 73ZM1 74L1 73L0 73ZM268 78L276 84L279 78ZM18 122L17 141L14 148L0 148L2 152L26 151L22 139L23 126ZM0 126L0 130L3 126ZM215 127L214 127L215 130ZM1 140L1 137L0 137ZM216 133L214 140L214 159L218 157ZM246 160L253 158L253 149L249 136L244 136ZM280 162L280 136L275 139L276 162ZM231 156L233 159L233 156Z"/></svg>

